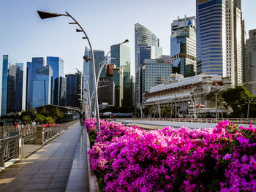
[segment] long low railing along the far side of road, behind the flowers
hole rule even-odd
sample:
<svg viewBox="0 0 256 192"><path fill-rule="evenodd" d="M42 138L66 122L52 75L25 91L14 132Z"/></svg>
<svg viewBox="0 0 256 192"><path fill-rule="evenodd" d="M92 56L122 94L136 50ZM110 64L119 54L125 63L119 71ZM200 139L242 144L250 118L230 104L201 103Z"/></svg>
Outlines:
<svg viewBox="0 0 256 192"><path fill-rule="evenodd" d="M191 123L219 123L219 121L229 120L235 124L256 124L256 119L251 118L122 118L127 120L152 120L152 121L172 121L172 122L191 122Z"/></svg>

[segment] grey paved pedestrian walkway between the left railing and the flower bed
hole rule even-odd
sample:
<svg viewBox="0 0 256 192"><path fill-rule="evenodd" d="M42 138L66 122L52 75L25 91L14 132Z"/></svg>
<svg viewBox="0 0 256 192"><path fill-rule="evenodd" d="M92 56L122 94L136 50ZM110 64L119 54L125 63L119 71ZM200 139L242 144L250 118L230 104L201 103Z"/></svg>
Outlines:
<svg viewBox="0 0 256 192"><path fill-rule="evenodd" d="M84 150L78 150L82 128L76 123L36 153L0 172L0 191L65 191L71 168L76 165L73 159L79 152L86 157ZM87 171L87 167L82 168ZM80 176L80 187L89 191L88 177ZM69 185L75 185L75 181ZM72 191L72 187L69 189Z"/></svg>

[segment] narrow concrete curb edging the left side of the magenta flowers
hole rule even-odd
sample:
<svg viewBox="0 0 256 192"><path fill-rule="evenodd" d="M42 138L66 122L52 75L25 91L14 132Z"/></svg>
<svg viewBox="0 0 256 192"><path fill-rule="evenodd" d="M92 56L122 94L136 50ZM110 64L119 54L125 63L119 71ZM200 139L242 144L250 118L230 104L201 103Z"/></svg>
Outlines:
<svg viewBox="0 0 256 192"><path fill-rule="evenodd" d="M87 128L85 128L86 132L86 153L87 153L87 165L88 165L88 177L89 177L89 191L90 192L99 192L99 185L97 182L97 177L94 172L91 171L91 164L89 161L88 151L90 150L90 142L89 135L87 132Z"/></svg>

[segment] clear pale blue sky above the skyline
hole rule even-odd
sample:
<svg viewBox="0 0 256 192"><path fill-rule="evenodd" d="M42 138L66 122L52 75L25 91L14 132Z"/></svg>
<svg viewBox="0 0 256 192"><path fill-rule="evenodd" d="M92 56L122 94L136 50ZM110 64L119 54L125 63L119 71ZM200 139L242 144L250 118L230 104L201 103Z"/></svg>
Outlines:
<svg viewBox="0 0 256 192"><path fill-rule="evenodd" d="M64 73L83 69L82 34L66 17L41 20L37 10L69 12L83 26L94 50L110 50L110 45L129 39L134 64L135 23L140 23L160 39L163 54L170 55L170 23L178 16L195 15L195 0L1 0L0 55L8 54L26 63L32 57L59 56ZM255 0L242 2L246 31L256 28ZM134 70L133 70L134 71Z"/></svg>

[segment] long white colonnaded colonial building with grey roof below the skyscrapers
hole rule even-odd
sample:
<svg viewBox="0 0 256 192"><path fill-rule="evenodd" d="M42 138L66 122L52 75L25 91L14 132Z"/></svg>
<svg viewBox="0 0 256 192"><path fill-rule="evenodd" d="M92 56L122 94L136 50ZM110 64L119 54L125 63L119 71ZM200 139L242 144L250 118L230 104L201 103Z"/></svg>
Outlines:
<svg viewBox="0 0 256 192"><path fill-rule="evenodd" d="M143 109L154 106L159 111L161 106L168 106L173 110L172 118L217 117L228 112L219 93L231 87L230 77L200 74L184 78L171 74L169 78L169 82L150 88Z"/></svg>

